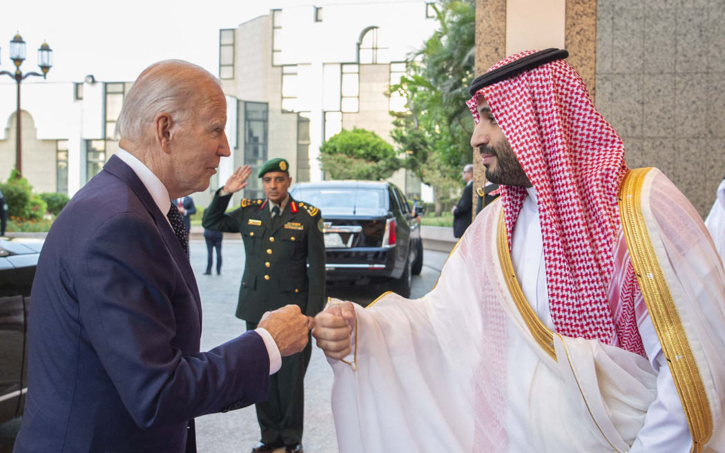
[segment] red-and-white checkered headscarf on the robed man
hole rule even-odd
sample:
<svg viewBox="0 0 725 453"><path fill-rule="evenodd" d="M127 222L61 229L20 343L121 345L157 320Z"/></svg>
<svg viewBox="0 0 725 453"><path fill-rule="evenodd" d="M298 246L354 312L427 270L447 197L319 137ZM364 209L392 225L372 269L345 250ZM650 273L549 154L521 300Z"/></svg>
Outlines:
<svg viewBox="0 0 725 453"><path fill-rule="evenodd" d="M532 53L514 54L491 70ZM549 307L557 331L644 354L631 302L639 291L634 273L626 272L613 302L614 307L624 304L616 320L607 297L621 230L618 190L627 171L621 138L595 109L579 74L563 60L481 88L468 101L476 123L479 94L537 191ZM526 189L500 188L510 247Z"/></svg>

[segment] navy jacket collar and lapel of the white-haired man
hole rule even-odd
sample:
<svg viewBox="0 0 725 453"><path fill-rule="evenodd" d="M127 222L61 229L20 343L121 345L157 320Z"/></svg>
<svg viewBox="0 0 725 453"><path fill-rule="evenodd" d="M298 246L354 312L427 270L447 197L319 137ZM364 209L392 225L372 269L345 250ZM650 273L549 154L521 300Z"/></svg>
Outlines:
<svg viewBox="0 0 725 453"><path fill-rule="evenodd" d="M166 248L169 250L169 253L173 257L176 265L179 267L184 281L186 282L186 286L191 291L191 294L194 294L196 305L199 308L199 317L201 317L202 304L201 298L199 297L199 288L196 286L196 278L194 278L194 270L191 270L191 263L186 258L186 254L181 248L181 244L179 244L174 230L171 228L171 225L169 225L165 213L162 214L162 212L159 211L159 207L152 198L151 194L149 194L149 191L146 189L146 186L144 186L144 183L138 179L136 173L131 169L131 167L126 165L123 160L114 155L111 159L109 159L106 165L104 165L103 169L128 184L128 187L134 194L136 194L141 203L144 204L144 207L146 208L146 211L149 212L149 215L153 217L154 222L156 223L156 228L158 228L159 233L166 244ZM171 205L169 205L169 207L171 207ZM201 322L201 319L199 319L199 322Z"/></svg>

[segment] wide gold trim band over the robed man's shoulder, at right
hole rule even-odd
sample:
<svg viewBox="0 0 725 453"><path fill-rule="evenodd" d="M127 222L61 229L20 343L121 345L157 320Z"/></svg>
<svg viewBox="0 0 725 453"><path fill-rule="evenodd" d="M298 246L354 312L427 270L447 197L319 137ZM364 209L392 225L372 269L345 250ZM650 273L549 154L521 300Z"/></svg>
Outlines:
<svg viewBox="0 0 725 453"><path fill-rule="evenodd" d="M652 168L629 170L619 191L619 215L650 318L670 367L692 435L690 452L702 452L713 433L713 417L702 375L655 254L642 212L642 186Z"/></svg>

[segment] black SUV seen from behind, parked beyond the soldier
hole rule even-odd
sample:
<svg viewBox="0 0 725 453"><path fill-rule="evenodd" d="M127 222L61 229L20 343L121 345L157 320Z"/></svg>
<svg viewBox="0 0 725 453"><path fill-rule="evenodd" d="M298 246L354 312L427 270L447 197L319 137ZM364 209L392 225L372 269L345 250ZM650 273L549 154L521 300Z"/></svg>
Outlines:
<svg viewBox="0 0 725 453"><path fill-rule="evenodd" d="M322 213L328 281L384 280L392 291L410 296L411 275L423 267L423 241L418 218L399 188L332 180L298 183L290 194Z"/></svg>

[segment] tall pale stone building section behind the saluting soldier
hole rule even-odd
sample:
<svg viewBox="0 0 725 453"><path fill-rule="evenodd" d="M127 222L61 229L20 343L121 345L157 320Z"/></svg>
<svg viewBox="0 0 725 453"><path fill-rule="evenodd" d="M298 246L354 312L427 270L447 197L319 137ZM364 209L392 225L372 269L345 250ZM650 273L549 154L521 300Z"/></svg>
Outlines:
<svg viewBox="0 0 725 453"><path fill-rule="evenodd" d="M234 166L283 157L294 181L321 180L320 145L342 128L373 130L392 144L389 112L405 99L386 93L436 30L433 13L426 1L291 7L220 30L220 79L239 99ZM405 170L391 180L421 194ZM262 196L259 180L245 196Z"/></svg>

